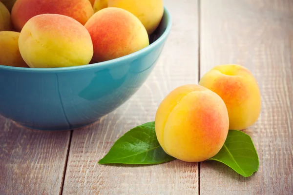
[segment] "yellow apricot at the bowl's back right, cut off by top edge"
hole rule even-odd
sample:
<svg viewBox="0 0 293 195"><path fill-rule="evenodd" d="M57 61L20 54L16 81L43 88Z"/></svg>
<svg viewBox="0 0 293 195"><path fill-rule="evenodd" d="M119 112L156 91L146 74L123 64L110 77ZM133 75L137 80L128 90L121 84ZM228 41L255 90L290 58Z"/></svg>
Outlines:
<svg viewBox="0 0 293 195"><path fill-rule="evenodd" d="M164 14L163 0L108 0L108 7L120 7L134 14L148 35L156 30Z"/></svg>

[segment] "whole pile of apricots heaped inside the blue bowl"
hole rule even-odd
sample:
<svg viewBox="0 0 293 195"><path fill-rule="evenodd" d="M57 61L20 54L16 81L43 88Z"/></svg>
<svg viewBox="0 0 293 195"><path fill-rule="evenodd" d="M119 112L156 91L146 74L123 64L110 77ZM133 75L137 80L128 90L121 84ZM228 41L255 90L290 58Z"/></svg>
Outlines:
<svg viewBox="0 0 293 195"><path fill-rule="evenodd" d="M16 0L11 10L5 2L0 0L0 65L30 68L134 53L149 45L164 13L163 0Z"/></svg>

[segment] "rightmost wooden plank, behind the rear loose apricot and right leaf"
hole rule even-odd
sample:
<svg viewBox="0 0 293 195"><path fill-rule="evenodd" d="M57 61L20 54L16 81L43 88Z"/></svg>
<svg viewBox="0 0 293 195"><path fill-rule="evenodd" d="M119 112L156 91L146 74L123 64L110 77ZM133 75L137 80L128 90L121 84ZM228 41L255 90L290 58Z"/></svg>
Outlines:
<svg viewBox="0 0 293 195"><path fill-rule="evenodd" d="M248 67L259 83L262 112L245 130L259 171L244 178L218 162L200 165L202 195L293 194L293 1L202 0L200 73L215 65Z"/></svg>

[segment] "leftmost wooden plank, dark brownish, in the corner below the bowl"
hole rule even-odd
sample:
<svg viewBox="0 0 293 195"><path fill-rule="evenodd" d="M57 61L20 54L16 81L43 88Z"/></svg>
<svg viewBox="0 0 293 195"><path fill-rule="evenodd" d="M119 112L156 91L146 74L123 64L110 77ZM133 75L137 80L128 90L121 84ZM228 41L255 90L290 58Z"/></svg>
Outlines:
<svg viewBox="0 0 293 195"><path fill-rule="evenodd" d="M59 195L69 138L0 117L0 195Z"/></svg>

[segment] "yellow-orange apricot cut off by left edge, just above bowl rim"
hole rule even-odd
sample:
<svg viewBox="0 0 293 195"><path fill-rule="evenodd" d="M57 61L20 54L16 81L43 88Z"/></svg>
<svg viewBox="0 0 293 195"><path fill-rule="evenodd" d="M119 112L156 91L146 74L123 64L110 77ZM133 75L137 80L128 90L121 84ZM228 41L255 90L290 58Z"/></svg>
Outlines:
<svg viewBox="0 0 293 195"><path fill-rule="evenodd" d="M21 58L19 36L19 32L0 31L0 65L28 68Z"/></svg>

